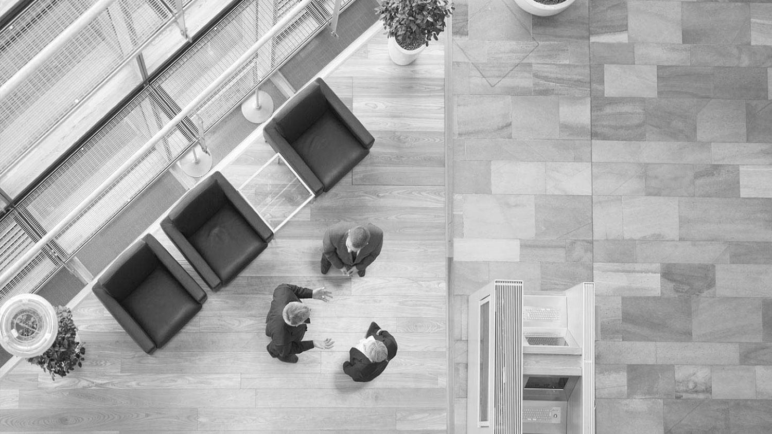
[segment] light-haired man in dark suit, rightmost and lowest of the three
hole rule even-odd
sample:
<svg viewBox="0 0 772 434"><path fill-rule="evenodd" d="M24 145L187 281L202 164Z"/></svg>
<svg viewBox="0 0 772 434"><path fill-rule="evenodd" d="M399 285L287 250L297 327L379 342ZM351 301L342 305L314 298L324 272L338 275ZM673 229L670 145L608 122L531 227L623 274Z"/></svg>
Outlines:
<svg viewBox="0 0 772 434"><path fill-rule="evenodd" d="M384 372L395 355L397 341L394 336L371 322L365 338L350 349L350 360L343 362L343 372L355 382L369 382Z"/></svg>

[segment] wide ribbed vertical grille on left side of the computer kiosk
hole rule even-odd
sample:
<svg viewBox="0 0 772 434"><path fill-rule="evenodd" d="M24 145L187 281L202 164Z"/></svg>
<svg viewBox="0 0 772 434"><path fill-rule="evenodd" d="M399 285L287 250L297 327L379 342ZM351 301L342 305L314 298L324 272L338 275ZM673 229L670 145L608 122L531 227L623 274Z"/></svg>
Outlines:
<svg viewBox="0 0 772 434"><path fill-rule="evenodd" d="M495 281L496 434L523 432L523 281Z"/></svg>

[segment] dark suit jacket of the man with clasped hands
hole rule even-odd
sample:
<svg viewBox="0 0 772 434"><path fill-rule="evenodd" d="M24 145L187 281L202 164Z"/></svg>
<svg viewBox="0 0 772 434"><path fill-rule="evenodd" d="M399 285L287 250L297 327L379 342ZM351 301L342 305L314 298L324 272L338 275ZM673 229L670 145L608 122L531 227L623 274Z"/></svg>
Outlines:
<svg viewBox="0 0 772 434"><path fill-rule="evenodd" d="M351 254L346 247L348 230L352 227L350 223L334 224L327 229L322 239L323 254L327 261L333 264L333 267L343 268L357 266L357 270L362 271L368 265L375 261L375 258L381 254L381 247L384 244L384 231L374 224L365 224L364 227L370 231L370 241L362 250L357 253L356 261L351 261Z"/></svg>

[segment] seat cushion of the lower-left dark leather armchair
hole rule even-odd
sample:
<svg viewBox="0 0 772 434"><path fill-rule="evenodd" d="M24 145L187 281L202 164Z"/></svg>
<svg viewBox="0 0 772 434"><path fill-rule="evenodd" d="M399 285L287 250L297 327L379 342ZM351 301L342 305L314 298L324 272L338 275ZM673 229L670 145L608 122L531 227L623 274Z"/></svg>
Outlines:
<svg viewBox="0 0 772 434"><path fill-rule="evenodd" d="M163 266L151 272L120 304L157 347L164 346L201 310L201 304Z"/></svg>

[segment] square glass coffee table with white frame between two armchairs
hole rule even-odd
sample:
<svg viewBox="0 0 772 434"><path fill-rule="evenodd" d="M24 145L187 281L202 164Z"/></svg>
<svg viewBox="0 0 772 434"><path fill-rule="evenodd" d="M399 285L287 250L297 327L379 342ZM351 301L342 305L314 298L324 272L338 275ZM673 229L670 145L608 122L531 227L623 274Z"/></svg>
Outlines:
<svg viewBox="0 0 772 434"><path fill-rule="evenodd" d="M239 191L274 233L314 197L279 153L242 183Z"/></svg>

